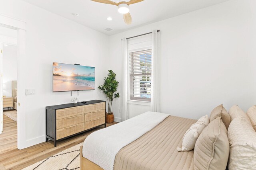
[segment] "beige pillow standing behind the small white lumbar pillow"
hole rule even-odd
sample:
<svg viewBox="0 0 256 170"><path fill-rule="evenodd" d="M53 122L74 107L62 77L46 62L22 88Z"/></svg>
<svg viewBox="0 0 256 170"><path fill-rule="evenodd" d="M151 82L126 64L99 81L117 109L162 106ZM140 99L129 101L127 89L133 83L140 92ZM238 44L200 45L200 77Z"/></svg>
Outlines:
<svg viewBox="0 0 256 170"><path fill-rule="evenodd" d="M212 110L212 113L210 115L210 122L216 119L217 117L221 117L222 122L226 126L226 129L228 129L228 126L230 124L230 116L228 115L228 112L226 111L226 109L223 107L223 104L215 107Z"/></svg>

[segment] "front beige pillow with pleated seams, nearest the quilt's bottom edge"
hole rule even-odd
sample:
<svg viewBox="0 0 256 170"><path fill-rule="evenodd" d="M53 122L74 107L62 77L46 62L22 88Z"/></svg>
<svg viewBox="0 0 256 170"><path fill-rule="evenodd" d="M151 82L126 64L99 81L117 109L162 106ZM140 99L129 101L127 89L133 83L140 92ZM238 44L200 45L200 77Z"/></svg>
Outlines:
<svg viewBox="0 0 256 170"><path fill-rule="evenodd" d="M211 121L199 135L194 149L195 170L225 170L229 143L227 129L221 117Z"/></svg>

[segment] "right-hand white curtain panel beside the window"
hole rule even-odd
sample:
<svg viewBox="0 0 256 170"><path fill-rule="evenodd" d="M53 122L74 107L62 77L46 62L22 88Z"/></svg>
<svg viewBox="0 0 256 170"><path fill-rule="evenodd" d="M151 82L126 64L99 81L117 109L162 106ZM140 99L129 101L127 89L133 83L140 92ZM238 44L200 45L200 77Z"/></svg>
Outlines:
<svg viewBox="0 0 256 170"><path fill-rule="evenodd" d="M160 31L152 32L151 111L160 112Z"/></svg>

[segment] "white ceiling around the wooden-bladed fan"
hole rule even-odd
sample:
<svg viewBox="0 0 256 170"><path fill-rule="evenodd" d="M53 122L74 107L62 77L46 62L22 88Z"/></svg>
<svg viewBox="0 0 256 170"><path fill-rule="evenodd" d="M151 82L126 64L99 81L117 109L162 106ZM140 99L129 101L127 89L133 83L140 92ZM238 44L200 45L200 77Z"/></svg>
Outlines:
<svg viewBox="0 0 256 170"><path fill-rule="evenodd" d="M101 4L91 0L24 1L107 35L113 35L134 27L206 8L228 0L144 0L138 4L130 5L131 25L124 23L122 14L118 13L117 6L114 5ZM113 1L120 2L119 0ZM72 13L80 14L80 16L76 18ZM106 20L109 16L113 18L112 21ZM108 27L113 30L109 32L104 30Z"/></svg>

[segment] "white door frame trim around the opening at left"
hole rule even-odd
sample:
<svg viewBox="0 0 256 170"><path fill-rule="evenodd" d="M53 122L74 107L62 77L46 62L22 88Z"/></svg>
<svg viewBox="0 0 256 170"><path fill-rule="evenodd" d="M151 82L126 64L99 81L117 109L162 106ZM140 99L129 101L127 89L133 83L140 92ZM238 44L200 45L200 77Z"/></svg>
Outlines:
<svg viewBox="0 0 256 170"><path fill-rule="evenodd" d="M24 63L25 55L25 33L26 22L0 14L0 25L17 30L17 59L18 59L18 78L17 78L17 96L18 97L18 110L17 110L17 147L24 149L26 144L26 100L25 100L25 87L26 84L22 80L21 64ZM1 86L2 87L2 86Z"/></svg>

